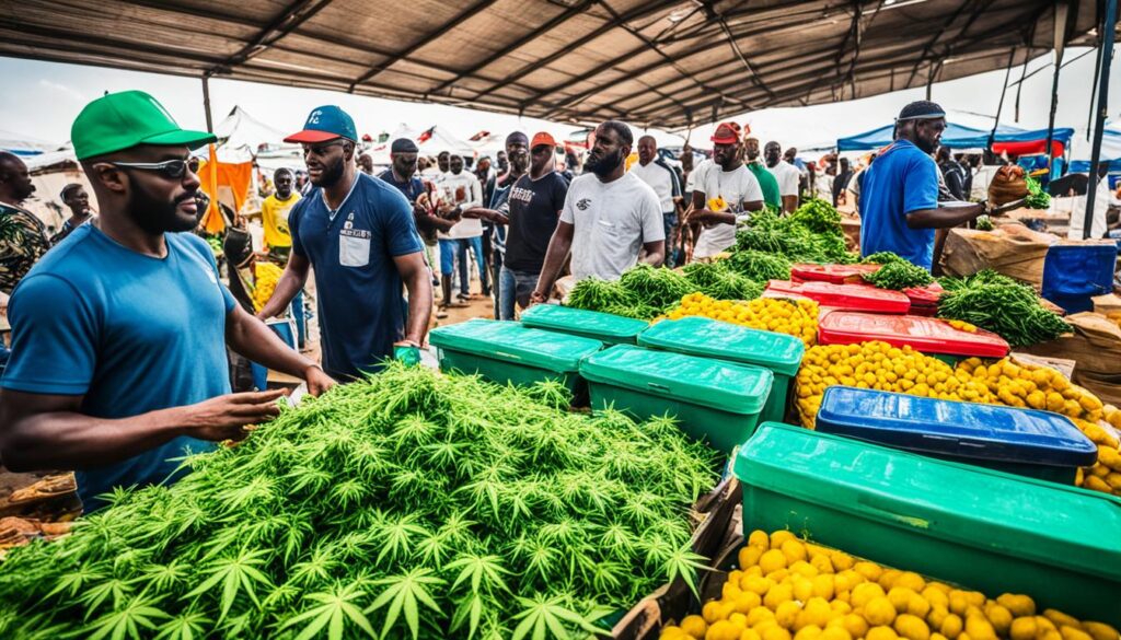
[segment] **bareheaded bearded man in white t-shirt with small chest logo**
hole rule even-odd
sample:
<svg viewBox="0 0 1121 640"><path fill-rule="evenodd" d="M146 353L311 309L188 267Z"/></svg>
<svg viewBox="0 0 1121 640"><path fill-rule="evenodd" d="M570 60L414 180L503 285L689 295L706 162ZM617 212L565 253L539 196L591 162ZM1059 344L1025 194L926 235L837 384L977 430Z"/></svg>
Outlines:
<svg viewBox="0 0 1121 640"><path fill-rule="evenodd" d="M595 129L584 173L568 186L531 304L548 299L569 251L576 280L593 276L617 280L638 262L640 251L643 262L661 265L666 232L658 195L626 171L633 142L622 122L609 120Z"/></svg>

